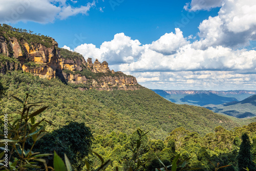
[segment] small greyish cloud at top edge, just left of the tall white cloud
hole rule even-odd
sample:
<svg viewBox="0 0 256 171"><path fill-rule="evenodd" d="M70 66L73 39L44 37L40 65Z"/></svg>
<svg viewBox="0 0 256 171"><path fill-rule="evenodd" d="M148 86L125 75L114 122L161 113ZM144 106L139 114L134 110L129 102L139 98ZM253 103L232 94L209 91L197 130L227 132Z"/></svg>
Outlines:
<svg viewBox="0 0 256 171"><path fill-rule="evenodd" d="M184 9L187 11L210 10L212 8L221 7L223 0L192 0L186 3Z"/></svg>

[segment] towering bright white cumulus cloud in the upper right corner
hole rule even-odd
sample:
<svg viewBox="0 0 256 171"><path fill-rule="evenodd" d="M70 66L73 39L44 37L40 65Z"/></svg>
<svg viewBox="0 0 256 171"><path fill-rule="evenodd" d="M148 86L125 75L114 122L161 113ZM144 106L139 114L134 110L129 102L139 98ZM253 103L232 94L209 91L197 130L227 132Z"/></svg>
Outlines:
<svg viewBox="0 0 256 171"><path fill-rule="evenodd" d="M210 46L239 48L256 40L256 4L251 0L223 0L218 16L203 20L198 27L201 38L195 48Z"/></svg>

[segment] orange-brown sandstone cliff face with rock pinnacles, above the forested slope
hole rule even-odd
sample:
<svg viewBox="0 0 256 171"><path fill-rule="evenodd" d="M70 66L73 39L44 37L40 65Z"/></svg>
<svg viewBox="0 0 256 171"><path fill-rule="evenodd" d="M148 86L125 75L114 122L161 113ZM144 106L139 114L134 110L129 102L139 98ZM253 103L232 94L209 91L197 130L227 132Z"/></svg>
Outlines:
<svg viewBox="0 0 256 171"><path fill-rule="evenodd" d="M140 88L135 77L111 71L106 61L100 63L96 59L93 63L91 58L86 61L76 52L60 49L57 42L49 37L34 43L23 36L10 37L0 30L0 64L3 74L9 70L22 70L47 79L58 77L63 82L79 84L81 89Z"/></svg>

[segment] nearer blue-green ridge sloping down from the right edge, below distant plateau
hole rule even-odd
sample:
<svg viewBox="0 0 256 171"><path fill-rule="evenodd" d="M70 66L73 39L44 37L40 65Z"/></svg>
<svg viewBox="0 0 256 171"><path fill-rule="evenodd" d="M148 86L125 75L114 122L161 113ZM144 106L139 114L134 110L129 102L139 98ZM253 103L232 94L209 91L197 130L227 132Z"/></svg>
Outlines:
<svg viewBox="0 0 256 171"><path fill-rule="evenodd" d="M256 95L242 101L233 101L220 105L205 105L216 113L222 113L237 118L251 118L256 116Z"/></svg>

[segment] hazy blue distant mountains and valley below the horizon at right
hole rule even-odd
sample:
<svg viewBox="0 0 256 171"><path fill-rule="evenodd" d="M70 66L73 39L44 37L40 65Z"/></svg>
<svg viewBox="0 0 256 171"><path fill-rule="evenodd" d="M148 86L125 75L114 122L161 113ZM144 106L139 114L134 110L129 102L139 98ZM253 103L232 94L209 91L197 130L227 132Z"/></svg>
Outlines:
<svg viewBox="0 0 256 171"><path fill-rule="evenodd" d="M203 106L237 118L256 116L256 91L153 90L177 104Z"/></svg>

